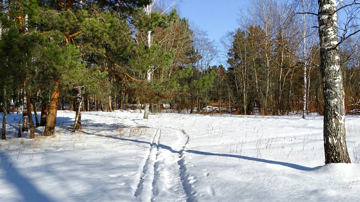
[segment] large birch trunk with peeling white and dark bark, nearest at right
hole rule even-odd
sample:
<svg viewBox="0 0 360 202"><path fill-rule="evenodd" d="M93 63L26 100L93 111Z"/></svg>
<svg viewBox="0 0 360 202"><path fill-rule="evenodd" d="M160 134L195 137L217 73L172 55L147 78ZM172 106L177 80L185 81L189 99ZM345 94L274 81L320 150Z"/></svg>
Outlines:
<svg viewBox="0 0 360 202"><path fill-rule="evenodd" d="M345 139L345 92L338 49L337 3L318 0L321 75L324 84L325 163L350 163Z"/></svg>

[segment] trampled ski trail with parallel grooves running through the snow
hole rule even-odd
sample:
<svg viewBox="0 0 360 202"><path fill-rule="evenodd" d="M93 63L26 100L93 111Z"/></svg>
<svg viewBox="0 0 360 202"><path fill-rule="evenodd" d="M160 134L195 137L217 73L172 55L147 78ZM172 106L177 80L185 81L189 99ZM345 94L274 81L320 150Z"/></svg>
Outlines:
<svg viewBox="0 0 360 202"><path fill-rule="evenodd" d="M190 140L189 135L185 130L178 128L152 127L133 121L138 126L147 126L158 131L153 140L153 142L157 140L157 143L151 145L149 157L140 175L142 179L134 197L138 201L164 201L163 197L167 200L171 198L171 201L175 202L197 201L196 193L192 191L196 179L186 173L184 159L184 150ZM150 180L152 180L151 184ZM145 186L147 186L146 192L144 192Z"/></svg>

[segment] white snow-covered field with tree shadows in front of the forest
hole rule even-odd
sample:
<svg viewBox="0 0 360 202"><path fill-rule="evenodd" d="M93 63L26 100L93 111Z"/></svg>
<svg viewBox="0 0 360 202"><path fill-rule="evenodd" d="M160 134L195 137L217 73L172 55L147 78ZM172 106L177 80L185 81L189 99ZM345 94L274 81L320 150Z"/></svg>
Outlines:
<svg viewBox="0 0 360 202"><path fill-rule="evenodd" d="M75 113L59 111L57 135L33 140L15 138L21 116L0 142L1 201L360 200L359 116L352 164L330 165L320 116L83 112L72 133Z"/></svg>

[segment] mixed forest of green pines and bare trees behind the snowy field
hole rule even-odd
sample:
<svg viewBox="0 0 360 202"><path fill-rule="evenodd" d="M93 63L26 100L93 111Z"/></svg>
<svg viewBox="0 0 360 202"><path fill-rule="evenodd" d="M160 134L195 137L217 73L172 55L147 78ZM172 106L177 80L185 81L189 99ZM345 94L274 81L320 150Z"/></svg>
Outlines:
<svg viewBox="0 0 360 202"><path fill-rule="evenodd" d="M315 113L343 125L345 113L359 113L359 3L334 4L330 22L321 18L330 3L318 2L251 1L239 28L222 37L221 52L178 14L177 1L1 0L2 139L10 112L23 114L21 130L34 138L38 126L54 135L57 111L65 109L76 111L73 132L82 111L116 109L139 109L145 119L163 109ZM318 11L321 4L326 9ZM226 64L212 65L221 54ZM329 131L345 138L335 125Z"/></svg>

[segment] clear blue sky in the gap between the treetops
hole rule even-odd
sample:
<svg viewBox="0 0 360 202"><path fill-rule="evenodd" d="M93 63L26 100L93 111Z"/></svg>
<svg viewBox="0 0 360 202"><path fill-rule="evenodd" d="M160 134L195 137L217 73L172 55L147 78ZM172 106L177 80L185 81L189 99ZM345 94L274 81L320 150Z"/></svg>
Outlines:
<svg viewBox="0 0 360 202"><path fill-rule="evenodd" d="M185 17L201 30L207 31L210 40L219 42L226 32L238 27L236 19L239 9L248 3L249 0L182 0L178 11L180 17Z"/></svg>

